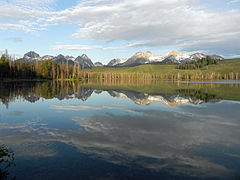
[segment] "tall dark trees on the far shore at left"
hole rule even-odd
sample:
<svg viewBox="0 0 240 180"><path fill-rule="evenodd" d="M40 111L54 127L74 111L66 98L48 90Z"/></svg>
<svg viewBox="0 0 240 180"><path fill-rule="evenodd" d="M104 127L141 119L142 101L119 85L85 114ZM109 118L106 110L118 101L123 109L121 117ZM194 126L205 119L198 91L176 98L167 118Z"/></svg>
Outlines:
<svg viewBox="0 0 240 180"><path fill-rule="evenodd" d="M81 79L84 66L78 63L55 63L52 60L27 62L24 59L12 60L7 55L0 58L0 79Z"/></svg>

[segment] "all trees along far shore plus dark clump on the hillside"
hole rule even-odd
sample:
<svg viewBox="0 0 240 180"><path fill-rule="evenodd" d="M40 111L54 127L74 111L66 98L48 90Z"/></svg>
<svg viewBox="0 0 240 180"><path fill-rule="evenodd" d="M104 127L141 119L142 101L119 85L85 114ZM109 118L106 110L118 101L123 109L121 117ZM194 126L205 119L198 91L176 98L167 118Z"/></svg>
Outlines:
<svg viewBox="0 0 240 180"><path fill-rule="evenodd" d="M199 69L210 64L218 64L219 60L206 57L198 61L178 65L178 72L100 72L88 71L78 63L74 65L56 63L52 60L31 61L24 59L14 61L6 55L0 58L0 79L96 79L113 82L121 80L239 80L238 72L204 72L204 71L181 71L182 69Z"/></svg>

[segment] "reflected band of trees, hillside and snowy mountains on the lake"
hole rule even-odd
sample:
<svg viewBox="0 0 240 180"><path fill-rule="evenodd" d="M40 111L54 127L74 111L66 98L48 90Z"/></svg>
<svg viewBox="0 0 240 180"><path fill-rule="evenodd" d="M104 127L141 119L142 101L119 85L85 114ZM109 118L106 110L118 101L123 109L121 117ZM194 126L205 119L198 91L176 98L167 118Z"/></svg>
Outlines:
<svg viewBox="0 0 240 180"><path fill-rule="evenodd" d="M88 100L92 93L101 94L107 91L112 97L129 98L136 104L150 105L153 102L162 102L175 107L180 104L201 104L204 102L218 102L222 99L240 100L238 90L240 84L172 84L161 82L155 84L156 89L150 84L150 91L141 92L139 88L132 85L132 88L116 86L115 84L86 84L84 82L72 81L53 81L53 82L0 82L0 101L8 106L8 103L16 99L24 99L31 103L38 101L41 97L44 99L57 98L63 99L81 99ZM168 92L165 86L171 86ZM144 85L143 85L144 86ZM153 87L154 87L153 86ZM217 91L213 89L218 89ZM231 91L232 90L232 91ZM227 95L226 95L227 94ZM237 96L236 96L237 94Z"/></svg>

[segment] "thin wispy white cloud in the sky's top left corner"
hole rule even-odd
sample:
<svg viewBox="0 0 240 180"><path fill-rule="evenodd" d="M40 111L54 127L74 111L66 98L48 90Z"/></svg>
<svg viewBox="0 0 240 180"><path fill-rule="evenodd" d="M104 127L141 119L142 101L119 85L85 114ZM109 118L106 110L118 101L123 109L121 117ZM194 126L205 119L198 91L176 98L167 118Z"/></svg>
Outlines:
<svg viewBox="0 0 240 180"><path fill-rule="evenodd" d="M0 0L0 30L34 32L45 30L43 24L55 0Z"/></svg>

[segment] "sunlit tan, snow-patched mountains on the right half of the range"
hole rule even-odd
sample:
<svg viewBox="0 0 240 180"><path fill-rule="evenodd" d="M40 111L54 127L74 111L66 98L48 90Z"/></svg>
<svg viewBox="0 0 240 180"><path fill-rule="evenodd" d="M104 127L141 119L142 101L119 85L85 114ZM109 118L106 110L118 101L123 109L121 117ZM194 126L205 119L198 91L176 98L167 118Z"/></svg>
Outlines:
<svg viewBox="0 0 240 180"><path fill-rule="evenodd" d="M189 61L197 61L199 59L206 58L207 56L216 60L224 59L223 57L218 55L205 55L203 53L195 53L189 55L178 52L176 50L172 50L163 56L156 56L153 55L151 52L147 51L146 53L138 52L125 61L120 61L120 59L113 59L108 63L108 66L136 66L156 62L169 64L183 64Z"/></svg>

